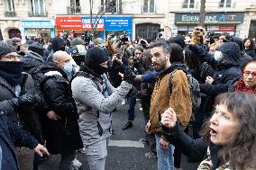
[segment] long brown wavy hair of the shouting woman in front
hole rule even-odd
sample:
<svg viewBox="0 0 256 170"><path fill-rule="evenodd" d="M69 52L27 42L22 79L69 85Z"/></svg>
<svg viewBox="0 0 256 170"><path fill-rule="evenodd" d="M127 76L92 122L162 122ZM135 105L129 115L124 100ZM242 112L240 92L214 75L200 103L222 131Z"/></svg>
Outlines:
<svg viewBox="0 0 256 170"><path fill-rule="evenodd" d="M222 162L230 162L232 169L256 168L256 95L243 93L219 94L216 104L225 104L228 112L240 121L238 133L218 153ZM209 122L206 122L204 138L209 139Z"/></svg>

